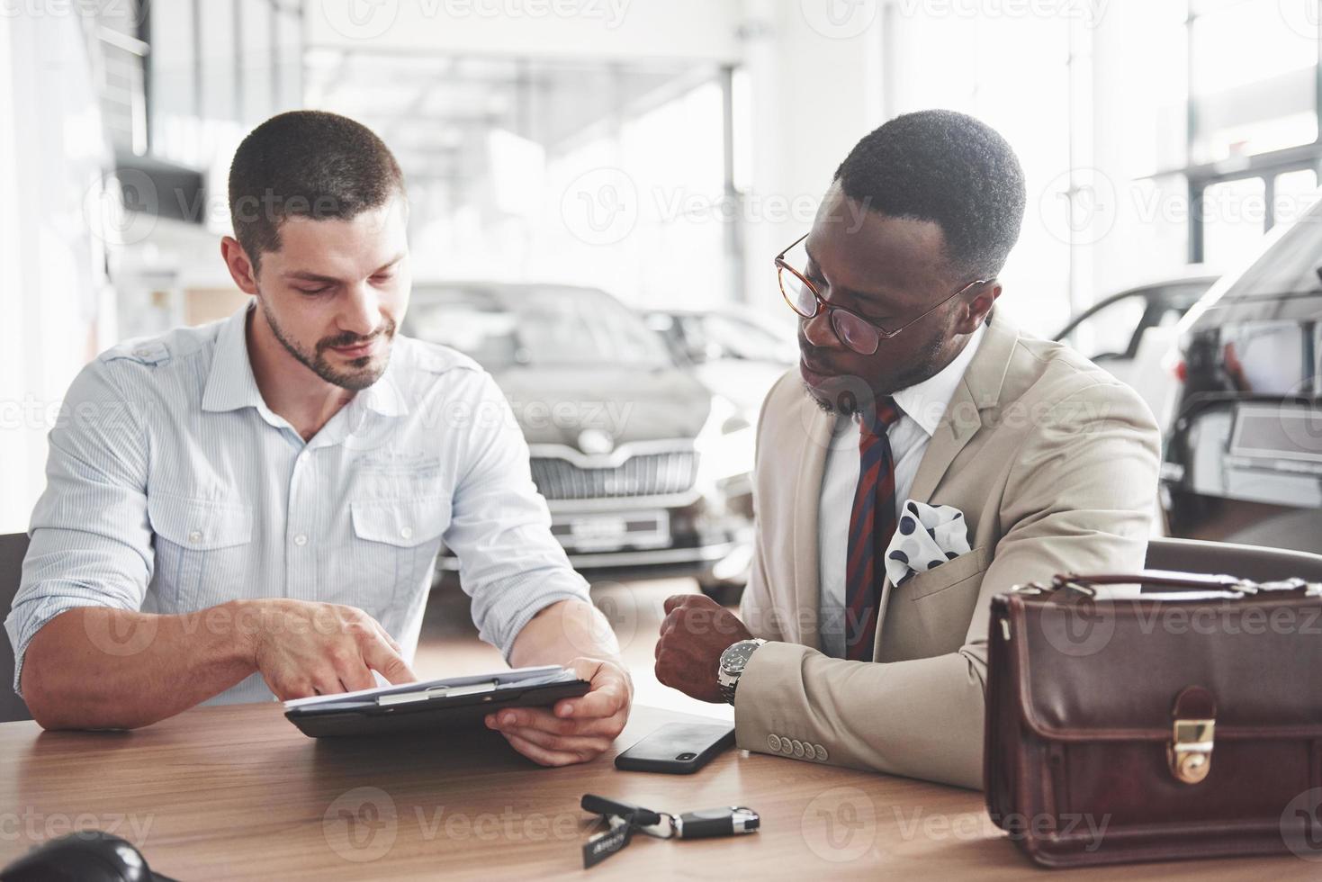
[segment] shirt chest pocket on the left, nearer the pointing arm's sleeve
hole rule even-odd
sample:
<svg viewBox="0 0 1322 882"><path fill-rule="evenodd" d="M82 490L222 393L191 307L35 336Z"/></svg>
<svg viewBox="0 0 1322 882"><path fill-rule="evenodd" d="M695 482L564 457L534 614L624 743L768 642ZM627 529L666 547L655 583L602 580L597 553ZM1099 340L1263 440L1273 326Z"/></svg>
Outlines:
<svg viewBox="0 0 1322 882"><path fill-rule="evenodd" d="M239 596L251 562L253 506L151 493L152 584L163 610L189 612Z"/></svg>

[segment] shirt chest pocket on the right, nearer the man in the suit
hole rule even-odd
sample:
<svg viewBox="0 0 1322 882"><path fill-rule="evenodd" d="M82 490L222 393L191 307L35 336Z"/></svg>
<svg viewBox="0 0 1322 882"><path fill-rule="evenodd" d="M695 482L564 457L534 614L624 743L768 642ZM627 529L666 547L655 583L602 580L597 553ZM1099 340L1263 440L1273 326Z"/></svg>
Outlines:
<svg viewBox="0 0 1322 882"><path fill-rule="evenodd" d="M354 545L349 577L354 590L368 596L385 595L391 606L408 606L430 587L423 579L449 528L449 497L358 500L349 502L349 516Z"/></svg>

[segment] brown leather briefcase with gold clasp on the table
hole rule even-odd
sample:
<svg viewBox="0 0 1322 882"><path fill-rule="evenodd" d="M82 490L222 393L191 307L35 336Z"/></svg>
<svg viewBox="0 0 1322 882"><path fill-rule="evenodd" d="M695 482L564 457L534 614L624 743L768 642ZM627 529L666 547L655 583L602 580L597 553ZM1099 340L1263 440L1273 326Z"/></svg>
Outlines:
<svg viewBox="0 0 1322 882"><path fill-rule="evenodd" d="M1322 877L1322 584L1059 575L994 598L989 640L988 811L1034 861Z"/></svg>

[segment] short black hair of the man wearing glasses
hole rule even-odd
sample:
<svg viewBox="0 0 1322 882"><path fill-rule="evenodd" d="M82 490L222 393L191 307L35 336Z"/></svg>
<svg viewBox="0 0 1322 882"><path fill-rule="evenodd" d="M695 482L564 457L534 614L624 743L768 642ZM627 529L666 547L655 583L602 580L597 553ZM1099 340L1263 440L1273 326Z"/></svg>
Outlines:
<svg viewBox="0 0 1322 882"><path fill-rule="evenodd" d="M834 180L867 210L937 223L960 275L995 275L1019 238L1023 169L995 130L966 114L896 116L858 141Z"/></svg>

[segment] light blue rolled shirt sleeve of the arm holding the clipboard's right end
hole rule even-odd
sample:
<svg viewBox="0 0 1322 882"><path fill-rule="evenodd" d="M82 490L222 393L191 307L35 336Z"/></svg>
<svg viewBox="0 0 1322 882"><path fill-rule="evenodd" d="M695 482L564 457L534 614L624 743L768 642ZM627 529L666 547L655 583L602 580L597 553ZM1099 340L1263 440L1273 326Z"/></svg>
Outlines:
<svg viewBox="0 0 1322 882"><path fill-rule="evenodd" d="M527 443L509 403L489 374L480 377L467 468L444 540L459 558L481 639L508 661L520 631L538 611L559 600L590 599L587 582L551 536L551 516L533 484Z"/></svg>

